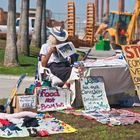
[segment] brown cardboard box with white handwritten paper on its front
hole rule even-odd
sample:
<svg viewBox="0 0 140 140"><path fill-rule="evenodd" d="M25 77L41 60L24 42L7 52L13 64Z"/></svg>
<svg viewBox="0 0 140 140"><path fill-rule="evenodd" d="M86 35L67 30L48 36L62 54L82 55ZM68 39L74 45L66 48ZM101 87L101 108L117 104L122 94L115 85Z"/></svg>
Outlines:
<svg viewBox="0 0 140 140"><path fill-rule="evenodd" d="M11 104L11 112L32 111L37 112L37 99L35 95L18 94Z"/></svg>

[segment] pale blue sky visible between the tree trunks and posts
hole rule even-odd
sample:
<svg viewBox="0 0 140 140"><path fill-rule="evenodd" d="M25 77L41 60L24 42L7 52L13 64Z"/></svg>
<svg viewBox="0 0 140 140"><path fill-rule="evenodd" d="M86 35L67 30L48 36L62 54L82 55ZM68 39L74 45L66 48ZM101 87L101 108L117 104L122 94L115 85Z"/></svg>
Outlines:
<svg viewBox="0 0 140 140"><path fill-rule="evenodd" d="M67 13L68 0L46 0L47 9L52 10L53 13ZM85 16L86 4L88 1L94 0L73 0L75 2L76 14ZM100 0L99 0L100 1ZM106 0L104 0L106 1ZM118 9L118 0L110 0L110 11ZM135 0L125 0L126 11L133 11ZM8 0L0 0L0 7L7 10ZM36 0L30 0L30 7L36 7ZM20 11L20 0L17 0L17 11ZM61 16L61 14L59 14Z"/></svg>

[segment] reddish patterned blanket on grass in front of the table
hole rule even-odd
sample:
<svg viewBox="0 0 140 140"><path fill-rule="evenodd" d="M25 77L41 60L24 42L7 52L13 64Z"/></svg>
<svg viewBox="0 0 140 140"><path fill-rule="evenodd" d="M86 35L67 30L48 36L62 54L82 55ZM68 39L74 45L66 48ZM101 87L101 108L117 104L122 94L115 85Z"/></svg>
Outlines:
<svg viewBox="0 0 140 140"><path fill-rule="evenodd" d="M65 110L61 111L66 114L73 114L76 116L84 116L87 119L94 119L102 124L109 126L130 125L140 123L140 114L125 109L114 109L110 111L89 111L84 110Z"/></svg>

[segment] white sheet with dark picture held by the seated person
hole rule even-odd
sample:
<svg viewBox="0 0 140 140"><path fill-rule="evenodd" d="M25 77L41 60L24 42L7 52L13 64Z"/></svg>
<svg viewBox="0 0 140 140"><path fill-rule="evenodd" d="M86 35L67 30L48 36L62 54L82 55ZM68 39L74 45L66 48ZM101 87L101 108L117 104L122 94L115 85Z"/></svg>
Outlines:
<svg viewBox="0 0 140 140"><path fill-rule="evenodd" d="M76 53L76 49L72 42L59 44L56 46L56 48L64 58L67 58L72 54Z"/></svg>

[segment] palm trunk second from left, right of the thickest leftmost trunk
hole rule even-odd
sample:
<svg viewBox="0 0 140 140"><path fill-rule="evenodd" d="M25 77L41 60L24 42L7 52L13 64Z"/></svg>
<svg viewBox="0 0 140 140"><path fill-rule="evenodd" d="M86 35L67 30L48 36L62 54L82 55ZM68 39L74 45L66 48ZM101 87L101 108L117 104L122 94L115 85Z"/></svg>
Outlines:
<svg viewBox="0 0 140 140"><path fill-rule="evenodd" d="M18 53L29 56L29 0L21 1L20 30L18 33Z"/></svg>

